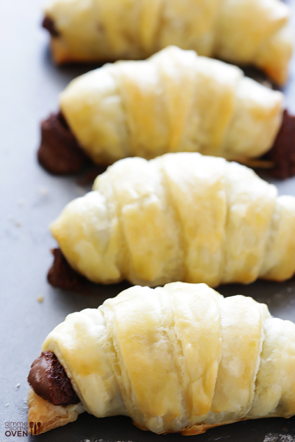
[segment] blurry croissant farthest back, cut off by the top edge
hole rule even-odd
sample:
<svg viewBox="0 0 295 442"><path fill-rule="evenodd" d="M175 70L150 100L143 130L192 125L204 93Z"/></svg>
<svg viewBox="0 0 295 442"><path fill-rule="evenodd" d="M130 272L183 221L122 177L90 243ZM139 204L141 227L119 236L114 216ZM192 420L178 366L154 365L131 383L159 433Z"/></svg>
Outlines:
<svg viewBox="0 0 295 442"><path fill-rule="evenodd" d="M54 0L44 27L57 63L146 58L168 45L286 80L290 8L279 0Z"/></svg>

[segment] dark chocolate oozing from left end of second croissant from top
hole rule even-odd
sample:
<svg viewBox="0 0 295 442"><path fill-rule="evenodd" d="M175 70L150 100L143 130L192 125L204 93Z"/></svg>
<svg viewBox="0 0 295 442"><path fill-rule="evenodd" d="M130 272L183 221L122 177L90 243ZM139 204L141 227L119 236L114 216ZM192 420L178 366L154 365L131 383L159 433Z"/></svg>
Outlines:
<svg viewBox="0 0 295 442"><path fill-rule="evenodd" d="M51 114L41 123L41 144L37 156L41 166L54 174L80 172L90 161L61 112Z"/></svg>

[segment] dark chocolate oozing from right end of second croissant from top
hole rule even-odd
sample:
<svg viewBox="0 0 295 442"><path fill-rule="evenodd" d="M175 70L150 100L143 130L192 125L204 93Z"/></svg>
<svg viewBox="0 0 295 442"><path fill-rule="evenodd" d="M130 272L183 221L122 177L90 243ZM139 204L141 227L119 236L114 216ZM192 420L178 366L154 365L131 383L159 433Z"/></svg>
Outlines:
<svg viewBox="0 0 295 442"><path fill-rule="evenodd" d="M295 116L286 109L276 141L261 159L275 163L269 173L279 180L295 175Z"/></svg>

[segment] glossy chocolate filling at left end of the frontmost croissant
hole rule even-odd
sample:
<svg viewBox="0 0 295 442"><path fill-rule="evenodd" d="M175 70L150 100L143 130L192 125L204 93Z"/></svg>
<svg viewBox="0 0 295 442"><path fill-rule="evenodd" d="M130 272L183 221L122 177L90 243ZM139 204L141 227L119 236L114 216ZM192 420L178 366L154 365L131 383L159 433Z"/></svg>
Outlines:
<svg viewBox="0 0 295 442"><path fill-rule="evenodd" d="M64 367L53 351L42 351L41 356L35 359L28 382L38 396L53 405L66 407L80 402Z"/></svg>

